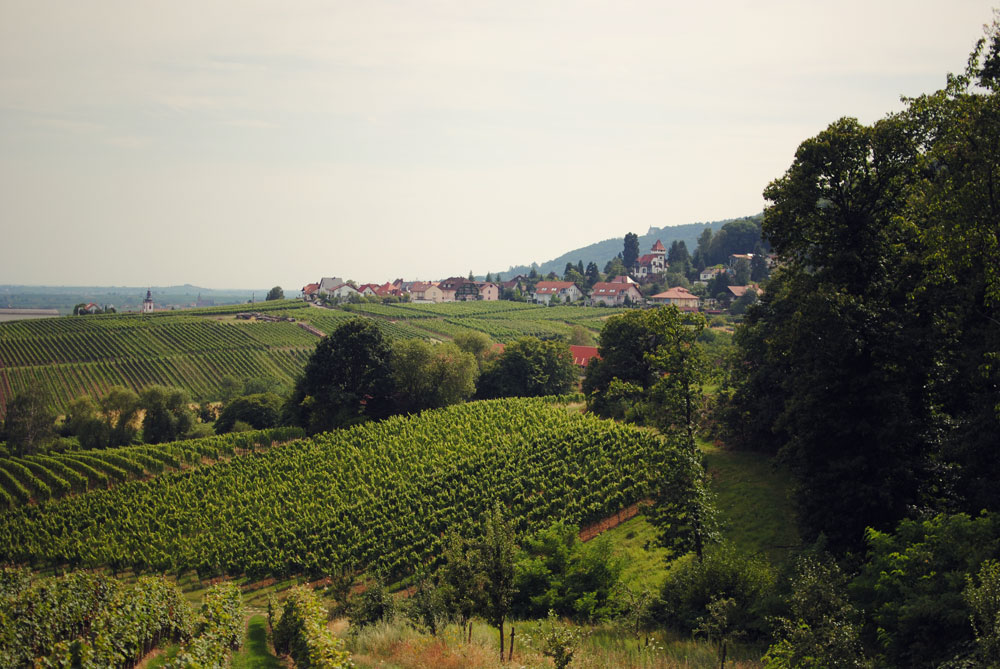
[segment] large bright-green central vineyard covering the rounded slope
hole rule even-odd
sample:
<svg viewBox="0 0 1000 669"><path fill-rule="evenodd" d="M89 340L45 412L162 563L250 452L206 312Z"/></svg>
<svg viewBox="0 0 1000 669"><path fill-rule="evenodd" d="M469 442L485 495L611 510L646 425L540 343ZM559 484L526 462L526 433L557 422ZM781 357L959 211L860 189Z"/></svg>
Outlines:
<svg viewBox="0 0 1000 669"><path fill-rule="evenodd" d="M643 498L678 457L649 432L559 405L475 402L19 506L0 514L0 562L251 578L365 565L400 576L495 501L521 530L587 523Z"/></svg>

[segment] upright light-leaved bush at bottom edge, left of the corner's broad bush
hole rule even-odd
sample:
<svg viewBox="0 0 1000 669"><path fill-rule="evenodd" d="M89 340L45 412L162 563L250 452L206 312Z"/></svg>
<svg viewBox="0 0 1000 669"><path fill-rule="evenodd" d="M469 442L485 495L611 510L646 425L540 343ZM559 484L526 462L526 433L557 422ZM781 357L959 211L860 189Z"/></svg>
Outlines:
<svg viewBox="0 0 1000 669"><path fill-rule="evenodd" d="M768 669L861 669L861 615L847 594L847 578L827 555L803 555L795 565L790 617L776 620L777 641Z"/></svg>

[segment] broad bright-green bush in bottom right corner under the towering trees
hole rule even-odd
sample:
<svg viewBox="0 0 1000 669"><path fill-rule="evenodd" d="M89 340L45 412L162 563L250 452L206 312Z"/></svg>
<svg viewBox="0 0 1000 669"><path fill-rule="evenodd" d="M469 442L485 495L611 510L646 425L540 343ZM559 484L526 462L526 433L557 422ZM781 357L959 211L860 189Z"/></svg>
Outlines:
<svg viewBox="0 0 1000 669"><path fill-rule="evenodd" d="M1000 555L995 515L905 520L895 533L868 532L868 559L851 584L872 621L879 663L937 667L973 641L967 578Z"/></svg>

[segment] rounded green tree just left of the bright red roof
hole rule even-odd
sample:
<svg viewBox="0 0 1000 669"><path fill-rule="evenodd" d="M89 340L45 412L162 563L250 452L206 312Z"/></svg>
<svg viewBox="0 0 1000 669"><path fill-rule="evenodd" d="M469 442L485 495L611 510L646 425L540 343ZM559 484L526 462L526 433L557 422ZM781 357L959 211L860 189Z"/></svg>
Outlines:
<svg viewBox="0 0 1000 669"><path fill-rule="evenodd" d="M573 358L565 341L523 337L483 365L477 394L484 398L562 395L575 378Z"/></svg>

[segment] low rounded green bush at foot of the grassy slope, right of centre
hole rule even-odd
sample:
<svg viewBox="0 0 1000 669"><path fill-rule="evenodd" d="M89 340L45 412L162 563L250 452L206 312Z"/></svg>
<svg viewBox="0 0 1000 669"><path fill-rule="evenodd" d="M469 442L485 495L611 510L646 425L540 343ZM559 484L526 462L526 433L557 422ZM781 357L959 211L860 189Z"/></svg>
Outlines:
<svg viewBox="0 0 1000 669"><path fill-rule="evenodd" d="M678 559L667 572L655 607L656 617L684 633L698 628L713 600L732 599L727 620L734 630L751 639L767 638L768 598L775 574L761 558L722 545L706 551L703 560L694 555Z"/></svg>

